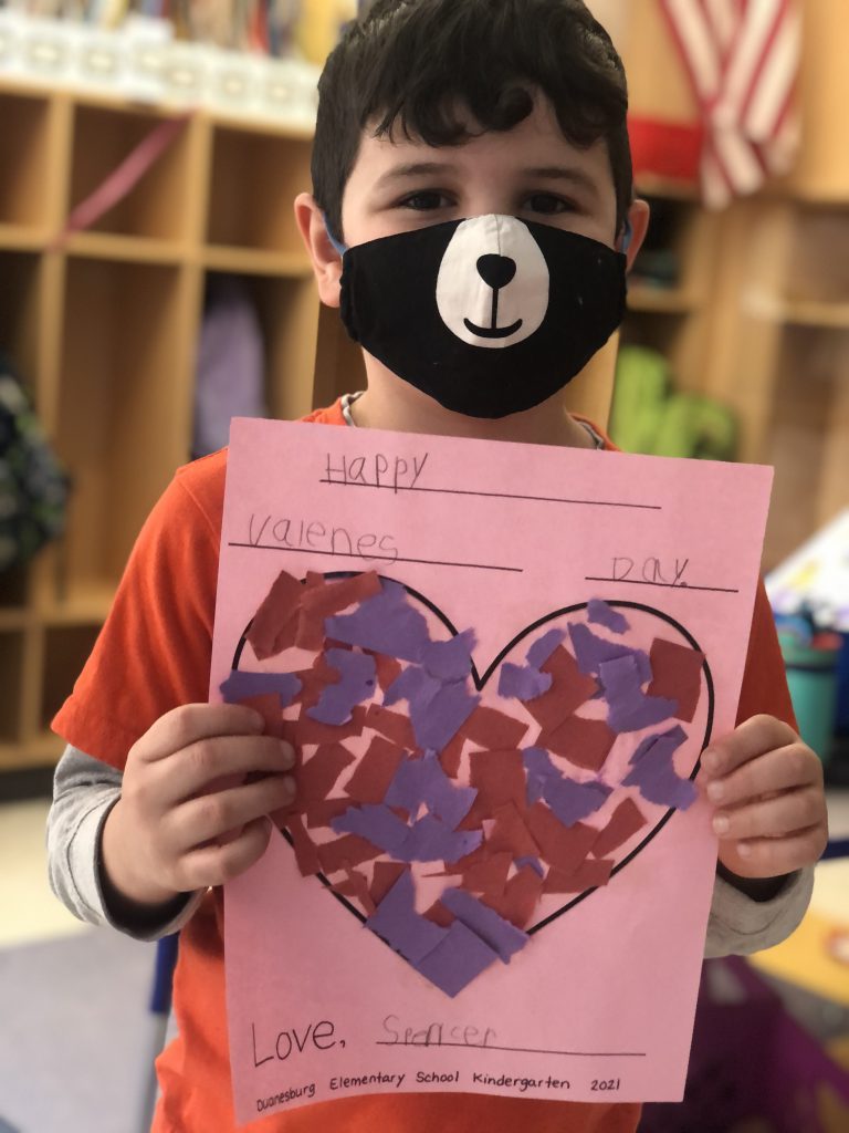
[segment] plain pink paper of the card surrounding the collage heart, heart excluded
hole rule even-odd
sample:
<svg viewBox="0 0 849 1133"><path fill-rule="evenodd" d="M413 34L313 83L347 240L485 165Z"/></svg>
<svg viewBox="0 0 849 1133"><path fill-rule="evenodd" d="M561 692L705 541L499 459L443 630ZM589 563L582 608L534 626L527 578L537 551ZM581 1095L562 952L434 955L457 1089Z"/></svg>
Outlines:
<svg viewBox="0 0 849 1133"><path fill-rule="evenodd" d="M728 731L770 483L745 466L237 421L212 697L281 569L377 571L473 629L480 673L552 611L651 606L705 654ZM225 892L240 1122L397 1089L680 1098L714 862L705 808L674 813L608 886L449 998L275 834Z"/></svg>

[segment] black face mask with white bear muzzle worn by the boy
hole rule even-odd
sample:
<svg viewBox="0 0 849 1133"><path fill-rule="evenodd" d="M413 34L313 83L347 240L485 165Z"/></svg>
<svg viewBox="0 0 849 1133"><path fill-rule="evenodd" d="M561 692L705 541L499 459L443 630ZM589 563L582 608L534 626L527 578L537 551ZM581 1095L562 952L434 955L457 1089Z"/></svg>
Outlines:
<svg viewBox="0 0 849 1133"><path fill-rule="evenodd" d="M621 253L515 216L371 240L342 264L351 338L468 417L507 417L552 397L625 314Z"/></svg>

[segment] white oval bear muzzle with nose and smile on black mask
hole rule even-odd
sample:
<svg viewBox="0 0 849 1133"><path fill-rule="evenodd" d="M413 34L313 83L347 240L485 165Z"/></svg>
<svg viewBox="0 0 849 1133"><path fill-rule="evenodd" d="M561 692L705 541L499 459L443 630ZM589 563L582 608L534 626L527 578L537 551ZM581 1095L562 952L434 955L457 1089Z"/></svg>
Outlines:
<svg viewBox="0 0 849 1133"><path fill-rule="evenodd" d="M498 348L530 338L549 301L549 271L515 216L475 216L454 233L439 267L439 315L463 342Z"/></svg>

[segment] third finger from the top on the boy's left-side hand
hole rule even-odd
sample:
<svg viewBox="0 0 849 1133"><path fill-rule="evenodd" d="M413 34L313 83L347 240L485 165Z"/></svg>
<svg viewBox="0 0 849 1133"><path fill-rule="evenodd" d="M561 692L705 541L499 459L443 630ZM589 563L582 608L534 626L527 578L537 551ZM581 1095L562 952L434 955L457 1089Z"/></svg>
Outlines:
<svg viewBox="0 0 849 1133"><path fill-rule="evenodd" d="M185 852L278 810L294 799L291 775L271 775L257 783L216 791L182 803L165 819L165 836Z"/></svg>

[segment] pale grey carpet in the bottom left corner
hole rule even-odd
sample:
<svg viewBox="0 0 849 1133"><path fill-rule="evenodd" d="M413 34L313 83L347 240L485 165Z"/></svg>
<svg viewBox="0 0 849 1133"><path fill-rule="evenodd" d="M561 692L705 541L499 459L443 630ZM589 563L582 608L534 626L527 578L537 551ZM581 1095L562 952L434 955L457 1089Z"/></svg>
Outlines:
<svg viewBox="0 0 849 1133"><path fill-rule="evenodd" d="M0 949L0 1133L138 1133L154 955L108 929Z"/></svg>

